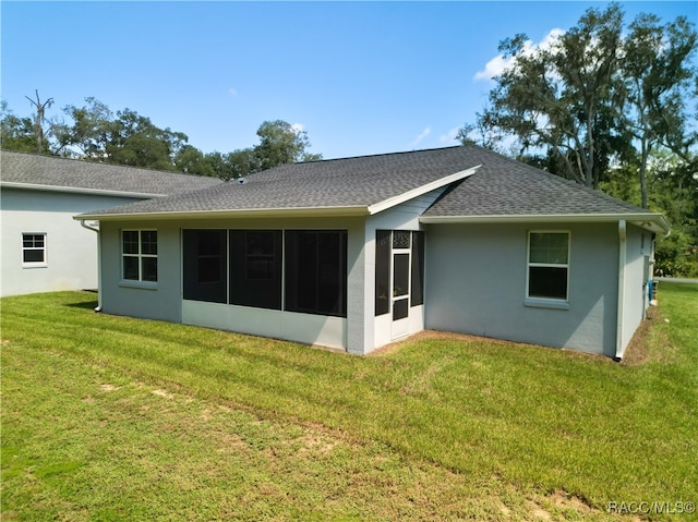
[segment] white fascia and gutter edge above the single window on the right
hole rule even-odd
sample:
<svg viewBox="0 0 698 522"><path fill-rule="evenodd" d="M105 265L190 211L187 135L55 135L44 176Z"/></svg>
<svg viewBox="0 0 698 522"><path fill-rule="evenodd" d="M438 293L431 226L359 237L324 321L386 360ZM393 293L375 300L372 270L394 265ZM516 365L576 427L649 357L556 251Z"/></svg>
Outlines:
<svg viewBox="0 0 698 522"><path fill-rule="evenodd" d="M638 214L541 214L541 215L492 215L492 216L421 216L422 223L552 223L595 222L607 223L625 220L652 232L669 234L671 227L659 213Z"/></svg>

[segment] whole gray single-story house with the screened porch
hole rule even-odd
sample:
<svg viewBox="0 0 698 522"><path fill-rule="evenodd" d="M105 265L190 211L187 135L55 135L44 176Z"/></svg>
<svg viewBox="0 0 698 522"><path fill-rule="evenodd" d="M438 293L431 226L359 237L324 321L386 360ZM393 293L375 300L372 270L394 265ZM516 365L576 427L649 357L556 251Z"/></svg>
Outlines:
<svg viewBox="0 0 698 522"><path fill-rule="evenodd" d="M623 356L660 214L476 146L280 166L98 220L104 312L366 354L422 329Z"/></svg>

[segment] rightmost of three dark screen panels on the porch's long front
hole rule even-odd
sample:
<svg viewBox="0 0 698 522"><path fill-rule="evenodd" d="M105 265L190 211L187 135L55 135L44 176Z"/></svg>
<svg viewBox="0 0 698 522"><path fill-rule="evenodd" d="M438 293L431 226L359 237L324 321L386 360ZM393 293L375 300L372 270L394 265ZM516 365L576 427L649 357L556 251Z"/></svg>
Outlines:
<svg viewBox="0 0 698 522"><path fill-rule="evenodd" d="M347 316L347 232L286 232L286 309Z"/></svg>

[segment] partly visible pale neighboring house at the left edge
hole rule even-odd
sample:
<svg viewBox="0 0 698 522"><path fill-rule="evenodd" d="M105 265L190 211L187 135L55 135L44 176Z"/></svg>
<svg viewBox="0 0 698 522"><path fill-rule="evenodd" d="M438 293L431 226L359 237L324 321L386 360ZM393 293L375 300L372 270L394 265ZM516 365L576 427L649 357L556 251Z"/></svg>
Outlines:
<svg viewBox="0 0 698 522"><path fill-rule="evenodd" d="M75 214L220 183L213 178L1 150L0 295L97 288L97 234L74 221Z"/></svg>

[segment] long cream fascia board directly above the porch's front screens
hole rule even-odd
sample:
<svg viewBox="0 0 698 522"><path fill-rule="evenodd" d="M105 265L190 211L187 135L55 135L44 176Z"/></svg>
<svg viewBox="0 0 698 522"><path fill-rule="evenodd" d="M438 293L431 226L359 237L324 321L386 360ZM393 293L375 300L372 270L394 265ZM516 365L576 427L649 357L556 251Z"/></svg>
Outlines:
<svg viewBox="0 0 698 522"><path fill-rule="evenodd" d="M308 207L308 208L245 208L240 210L195 210L134 214L79 214L77 221L146 221L174 219L240 219L240 218L291 218L291 217L357 217L368 216L365 206Z"/></svg>

